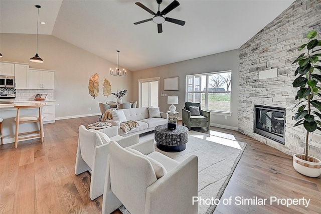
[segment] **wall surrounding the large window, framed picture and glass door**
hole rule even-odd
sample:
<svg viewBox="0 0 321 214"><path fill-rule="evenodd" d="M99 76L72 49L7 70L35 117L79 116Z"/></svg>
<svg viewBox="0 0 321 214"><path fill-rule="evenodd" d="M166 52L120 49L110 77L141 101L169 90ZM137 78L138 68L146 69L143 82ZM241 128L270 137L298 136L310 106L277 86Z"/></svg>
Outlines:
<svg viewBox="0 0 321 214"><path fill-rule="evenodd" d="M238 125L238 84L239 84L239 50L227 51L210 56L186 60L169 65L135 71L132 73L132 97L138 100L138 80L153 77L160 77L159 81L159 107L161 111L169 111L167 97L162 97L161 93L168 96L179 96L179 104L176 105L179 117L182 117L182 109L185 103L185 77L191 74L209 73L215 71L232 70L231 86L231 116L225 119L224 115L211 114L211 124L218 127L237 130ZM179 77L179 91L164 91L164 78Z"/></svg>

